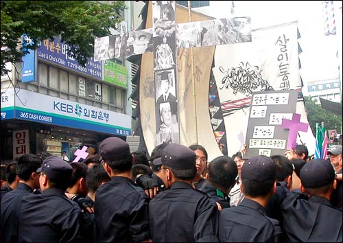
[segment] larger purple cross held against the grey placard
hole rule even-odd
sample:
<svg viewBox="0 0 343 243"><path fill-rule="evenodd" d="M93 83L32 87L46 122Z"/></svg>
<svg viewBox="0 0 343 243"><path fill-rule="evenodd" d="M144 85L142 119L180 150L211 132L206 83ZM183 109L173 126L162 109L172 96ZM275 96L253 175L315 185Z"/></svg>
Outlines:
<svg viewBox="0 0 343 243"><path fill-rule="evenodd" d="M307 132L309 124L300 122L300 114L293 113L292 120L282 119L282 128L288 128L287 150L296 148L296 137L298 131Z"/></svg>

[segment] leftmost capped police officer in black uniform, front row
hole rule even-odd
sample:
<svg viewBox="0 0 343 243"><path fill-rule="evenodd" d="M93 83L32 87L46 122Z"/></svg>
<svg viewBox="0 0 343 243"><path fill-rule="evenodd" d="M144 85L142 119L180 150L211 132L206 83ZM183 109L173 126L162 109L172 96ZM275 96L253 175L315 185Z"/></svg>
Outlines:
<svg viewBox="0 0 343 243"><path fill-rule="evenodd" d="M81 209L64 194L72 167L58 157L43 161L42 194L29 194L21 203L19 242L75 242L80 240Z"/></svg>

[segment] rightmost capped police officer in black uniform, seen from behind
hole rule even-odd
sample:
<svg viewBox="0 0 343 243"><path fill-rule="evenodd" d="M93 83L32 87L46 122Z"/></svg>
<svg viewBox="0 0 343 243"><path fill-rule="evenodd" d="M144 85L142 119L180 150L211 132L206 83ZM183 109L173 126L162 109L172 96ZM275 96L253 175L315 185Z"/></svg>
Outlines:
<svg viewBox="0 0 343 243"><path fill-rule="evenodd" d="M336 187L329 161L314 159L300 170L301 191L291 192L281 205L287 242L342 242L342 209L330 203Z"/></svg>

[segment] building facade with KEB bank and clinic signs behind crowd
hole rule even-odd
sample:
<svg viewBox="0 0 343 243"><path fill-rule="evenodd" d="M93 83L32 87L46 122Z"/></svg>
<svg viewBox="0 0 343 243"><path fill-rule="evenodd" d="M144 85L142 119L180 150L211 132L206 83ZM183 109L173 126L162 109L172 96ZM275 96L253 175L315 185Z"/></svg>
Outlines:
<svg viewBox="0 0 343 243"><path fill-rule="evenodd" d="M123 14L127 31L130 4ZM94 153L107 137L126 140L132 135L131 78L123 58L89 58L82 67L58 36L44 40L1 77L1 161L62 151L73 160L83 146Z"/></svg>

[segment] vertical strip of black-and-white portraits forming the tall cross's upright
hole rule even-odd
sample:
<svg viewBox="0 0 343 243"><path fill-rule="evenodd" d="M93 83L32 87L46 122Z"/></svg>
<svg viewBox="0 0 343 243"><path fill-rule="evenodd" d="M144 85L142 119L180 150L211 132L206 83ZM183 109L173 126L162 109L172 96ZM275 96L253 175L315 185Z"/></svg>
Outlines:
<svg viewBox="0 0 343 243"><path fill-rule="evenodd" d="M180 143L175 1L152 1L156 142Z"/></svg>

